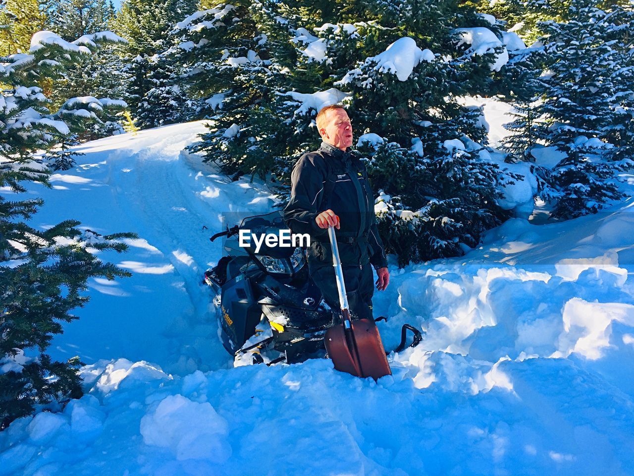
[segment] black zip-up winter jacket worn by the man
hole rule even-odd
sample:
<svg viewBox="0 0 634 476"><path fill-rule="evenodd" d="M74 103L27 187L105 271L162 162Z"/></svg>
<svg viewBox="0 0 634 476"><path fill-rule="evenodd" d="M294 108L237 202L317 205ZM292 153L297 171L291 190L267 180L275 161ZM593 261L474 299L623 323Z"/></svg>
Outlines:
<svg viewBox="0 0 634 476"><path fill-rule="evenodd" d="M295 163L290 201L284 209L288 228L311 236L308 258L313 267L332 266L328 232L315 221L327 209L340 218L336 234L342 265L369 261L375 268L387 267L365 164L351 152L322 142L318 150L307 152Z"/></svg>

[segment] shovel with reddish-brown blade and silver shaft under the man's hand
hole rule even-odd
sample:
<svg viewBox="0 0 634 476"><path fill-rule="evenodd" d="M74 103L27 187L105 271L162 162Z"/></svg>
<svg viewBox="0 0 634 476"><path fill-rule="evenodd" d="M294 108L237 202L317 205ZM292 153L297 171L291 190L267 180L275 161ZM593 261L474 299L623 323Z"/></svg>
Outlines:
<svg viewBox="0 0 634 476"><path fill-rule="evenodd" d="M385 357L381 336L378 334L378 328L374 321L370 319L350 320L344 273L339 259L335 228L332 226L328 227L328 237L330 237L330 246L332 246L332 265L335 267L343 322L330 327L326 332L324 338L326 350L335 364L335 369L361 378L372 377L376 381L382 376L392 374Z"/></svg>

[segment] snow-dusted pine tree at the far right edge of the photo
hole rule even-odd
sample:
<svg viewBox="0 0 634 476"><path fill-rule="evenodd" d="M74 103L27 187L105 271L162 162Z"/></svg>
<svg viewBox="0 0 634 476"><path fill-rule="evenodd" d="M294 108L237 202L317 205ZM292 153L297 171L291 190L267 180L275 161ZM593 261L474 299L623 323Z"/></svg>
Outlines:
<svg viewBox="0 0 634 476"><path fill-rule="evenodd" d="M605 202L623 196L615 175L631 164L630 157L606 159L615 156L617 145L610 142L615 109L634 88L628 72L631 58L615 48L619 40L614 40L613 18L611 11L598 8L597 0L578 0L570 6L566 22L541 23L547 34L542 40L547 74L543 102L537 108L545 119L538 124L538 135L566 154L550 174L553 188L560 192L553 209L556 218L596 213ZM616 30L621 36L629 34Z"/></svg>

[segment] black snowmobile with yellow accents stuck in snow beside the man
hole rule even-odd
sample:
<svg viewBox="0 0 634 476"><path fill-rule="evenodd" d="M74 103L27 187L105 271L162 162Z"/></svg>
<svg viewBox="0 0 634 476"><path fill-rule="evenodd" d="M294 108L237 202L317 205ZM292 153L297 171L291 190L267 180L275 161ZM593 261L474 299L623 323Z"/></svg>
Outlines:
<svg viewBox="0 0 634 476"><path fill-rule="evenodd" d="M238 241L240 230L278 234L286 229L281 212L274 211L244 218L210 238L224 237L228 253L205 272L204 282L213 290L219 336L235 366L293 364L327 356L323 339L333 326L333 312L309 277L306 248L262 242L256 252ZM422 339L420 331L405 324L397 352L404 348L406 329L414 333L410 347Z"/></svg>

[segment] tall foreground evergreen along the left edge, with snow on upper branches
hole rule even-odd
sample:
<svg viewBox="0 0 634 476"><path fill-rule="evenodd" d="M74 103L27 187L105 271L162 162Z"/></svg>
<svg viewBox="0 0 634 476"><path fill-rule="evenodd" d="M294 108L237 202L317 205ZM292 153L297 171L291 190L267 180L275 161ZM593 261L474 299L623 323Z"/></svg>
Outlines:
<svg viewBox="0 0 634 476"><path fill-rule="evenodd" d="M29 53L0 57L0 187L16 194L26 191L24 182L49 186L49 170L32 155L69 133L65 122L48 114L42 89L23 82L42 81L49 67L57 71L68 58L90 52L89 45L68 43L52 32L39 32L31 45ZM27 224L41 206L40 199L0 195L0 430L36 406L81 395L79 358L55 361L46 348L63 322L77 319L72 310L88 300L83 291L90 277L129 275L94 251L124 251L119 239L136 235L101 236L80 230L75 220L41 231Z"/></svg>

